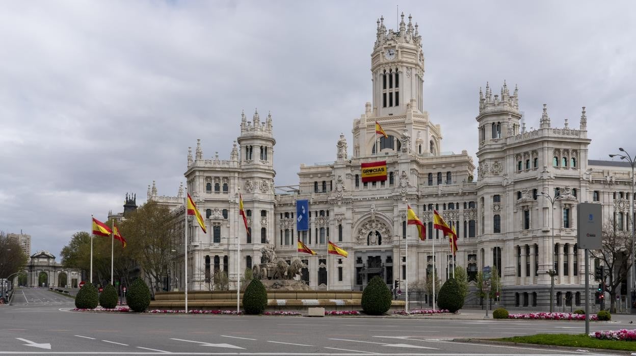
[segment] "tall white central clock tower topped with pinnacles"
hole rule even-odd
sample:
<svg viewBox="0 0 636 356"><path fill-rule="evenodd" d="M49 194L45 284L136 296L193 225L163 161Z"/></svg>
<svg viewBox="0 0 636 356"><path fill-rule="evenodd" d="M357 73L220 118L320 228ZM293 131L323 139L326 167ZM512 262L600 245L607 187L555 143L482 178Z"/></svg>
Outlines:
<svg viewBox="0 0 636 356"><path fill-rule="evenodd" d="M373 108L378 116L403 115L406 105L415 99L414 109L423 111L422 83L424 82L424 54L422 36L411 16L408 24L404 13L399 29L384 25L384 17L377 22L377 37L371 53L373 75ZM411 103L413 104L413 103Z"/></svg>

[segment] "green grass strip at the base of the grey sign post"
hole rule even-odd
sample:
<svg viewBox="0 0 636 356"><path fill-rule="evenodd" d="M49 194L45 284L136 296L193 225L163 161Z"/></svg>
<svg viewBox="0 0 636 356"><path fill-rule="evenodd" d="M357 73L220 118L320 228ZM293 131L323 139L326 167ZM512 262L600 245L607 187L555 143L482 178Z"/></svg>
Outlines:
<svg viewBox="0 0 636 356"><path fill-rule="evenodd" d="M636 351L636 342L619 340L600 340L585 334L536 334L530 336L513 336L512 338L494 339L508 343L524 343L535 345L570 346L578 348L602 348L605 350Z"/></svg>

